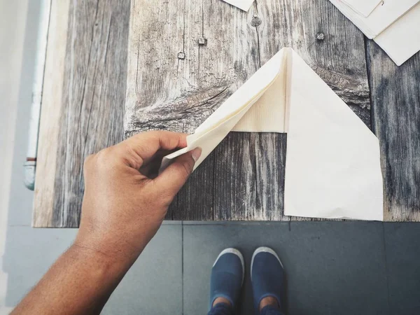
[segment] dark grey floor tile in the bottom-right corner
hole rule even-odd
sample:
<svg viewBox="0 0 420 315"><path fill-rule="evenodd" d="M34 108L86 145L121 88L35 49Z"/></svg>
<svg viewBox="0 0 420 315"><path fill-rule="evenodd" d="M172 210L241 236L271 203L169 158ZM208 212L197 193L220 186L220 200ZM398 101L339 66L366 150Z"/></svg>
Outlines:
<svg viewBox="0 0 420 315"><path fill-rule="evenodd" d="M392 314L420 313L420 224L384 223Z"/></svg>

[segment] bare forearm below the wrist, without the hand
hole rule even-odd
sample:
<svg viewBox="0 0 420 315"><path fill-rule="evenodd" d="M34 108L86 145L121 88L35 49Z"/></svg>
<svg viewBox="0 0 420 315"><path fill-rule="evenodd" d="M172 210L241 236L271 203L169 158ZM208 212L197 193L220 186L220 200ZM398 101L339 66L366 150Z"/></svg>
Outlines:
<svg viewBox="0 0 420 315"><path fill-rule="evenodd" d="M131 265L73 245L12 314L99 314Z"/></svg>

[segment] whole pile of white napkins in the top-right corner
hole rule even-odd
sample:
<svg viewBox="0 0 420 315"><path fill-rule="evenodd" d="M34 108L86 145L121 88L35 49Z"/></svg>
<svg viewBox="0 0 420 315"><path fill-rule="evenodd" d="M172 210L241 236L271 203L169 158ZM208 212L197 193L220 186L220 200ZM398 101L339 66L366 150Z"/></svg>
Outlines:
<svg viewBox="0 0 420 315"><path fill-rule="evenodd" d="M330 0L400 66L420 50L420 0Z"/></svg>

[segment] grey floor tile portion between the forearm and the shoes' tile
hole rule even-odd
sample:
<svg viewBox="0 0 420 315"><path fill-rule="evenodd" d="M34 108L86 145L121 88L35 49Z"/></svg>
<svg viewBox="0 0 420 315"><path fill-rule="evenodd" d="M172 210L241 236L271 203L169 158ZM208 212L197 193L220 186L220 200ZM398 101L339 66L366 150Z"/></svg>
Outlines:
<svg viewBox="0 0 420 315"><path fill-rule="evenodd" d="M111 295L103 314L181 314L181 225L164 225Z"/></svg>

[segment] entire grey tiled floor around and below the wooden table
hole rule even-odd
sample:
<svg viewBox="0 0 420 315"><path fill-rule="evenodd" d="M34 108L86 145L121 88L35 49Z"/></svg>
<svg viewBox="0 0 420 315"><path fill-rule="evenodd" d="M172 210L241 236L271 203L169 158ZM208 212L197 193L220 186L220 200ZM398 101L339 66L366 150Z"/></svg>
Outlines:
<svg viewBox="0 0 420 315"><path fill-rule="evenodd" d="M36 8L29 12L36 14ZM35 16L35 18L34 18ZM29 17L18 122L29 120L36 15ZM27 129L17 128L6 254L6 304L14 306L64 251L77 230L30 228L33 194L23 186ZM104 314L205 314L209 273L225 247L249 259L257 246L279 253L288 314L419 314L420 224L364 222L165 223ZM245 281L242 314L253 314Z"/></svg>

